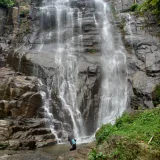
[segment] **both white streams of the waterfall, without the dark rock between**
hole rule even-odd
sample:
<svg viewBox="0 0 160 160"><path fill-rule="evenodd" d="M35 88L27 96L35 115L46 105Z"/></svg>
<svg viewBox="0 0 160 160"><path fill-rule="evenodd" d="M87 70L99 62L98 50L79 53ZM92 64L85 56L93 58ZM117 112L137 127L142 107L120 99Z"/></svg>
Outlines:
<svg viewBox="0 0 160 160"><path fill-rule="evenodd" d="M82 25L85 17L78 7L70 6L71 1L73 0L43 0L43 6L40 7L41 30L42 34L46 35L47 43L42 38L38 52L53 52L57 69L56 77L49 79L51 83L48 84L48 97L44 98L47 116L50 119L54 118L50 111L50 100L52 89L56 88L61 109L70 117L74 137L78 139L78 143L82 143L92 141L94 138L94 134L88 137L84 119L77 104L79 73L77 55L83 53ZM121 43L116 44L113 38L113 25L110 21L111 12L108 4L103 0L93 0L91 3L95 3L95 14L92 14L92 18L96 28L101 27L99 34L102 42L103 78L98 128L105 123L114 123L116 118L124 112L127 103L127 70L124 48ZM76 34L75 26L78 28ZM75 44L78 44L78 47L75 47ZM55 132L54 126L51 125L51 128Z"/></svg>

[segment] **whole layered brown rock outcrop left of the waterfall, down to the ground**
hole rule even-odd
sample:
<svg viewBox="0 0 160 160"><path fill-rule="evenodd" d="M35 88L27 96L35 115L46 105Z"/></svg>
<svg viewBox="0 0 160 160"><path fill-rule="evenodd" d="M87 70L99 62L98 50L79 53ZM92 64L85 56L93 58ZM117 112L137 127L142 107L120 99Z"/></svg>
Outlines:
<svg viewBox="0 0 160 160"><path fill-rule="evenodd" d="M0 119L5 119L0 120L1 148L30 150L56 144L50 119L44 118L45 112L42 111L40 80L17 75L9 68L1 68L0 77Z"/></svg>

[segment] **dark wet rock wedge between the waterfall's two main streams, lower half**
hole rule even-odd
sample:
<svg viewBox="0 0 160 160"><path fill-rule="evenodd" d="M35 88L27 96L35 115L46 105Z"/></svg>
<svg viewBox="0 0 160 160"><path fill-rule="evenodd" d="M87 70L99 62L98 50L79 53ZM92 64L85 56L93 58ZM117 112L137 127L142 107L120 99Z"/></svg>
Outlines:
<svg viewBox="0 0 160 160"><path fill-rule="evenodd" d="M99 92L101 86L101 68L98 62L99 56L93 60L94 64L88 65L91 57L87 57L86 61L81 58L79 62L79 90L78 90L78 105L85 119L87 132L92 133L97 126L96 119L99 109ZM87 68L87 69L86 69ZM92 124L92 125L91 125Z"/></svg>

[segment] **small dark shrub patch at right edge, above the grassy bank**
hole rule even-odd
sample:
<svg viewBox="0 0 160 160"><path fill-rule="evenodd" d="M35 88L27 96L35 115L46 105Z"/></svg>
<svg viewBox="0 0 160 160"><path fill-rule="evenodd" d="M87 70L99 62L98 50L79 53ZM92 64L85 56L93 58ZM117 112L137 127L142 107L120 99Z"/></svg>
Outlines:
<svg viewBox="0 0 160 160"><path fill-rule="evenodd" d="M160 104L160 84L156 86L154 92L152 93L152 98L154 106Z"/></svg>

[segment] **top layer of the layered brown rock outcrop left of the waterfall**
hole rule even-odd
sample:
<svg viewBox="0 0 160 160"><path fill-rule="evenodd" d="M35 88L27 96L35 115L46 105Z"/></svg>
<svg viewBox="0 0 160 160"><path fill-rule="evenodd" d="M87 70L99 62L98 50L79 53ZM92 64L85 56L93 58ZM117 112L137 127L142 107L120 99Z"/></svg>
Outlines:
<svg viewBox="0 0 160 160"><path fill-rule="evenodd" d="M36 77L14 76L14 72L5 68L1 71L5 73L0 72L3 78L0 83L0 96L5 99L20 97L28 91L37 92L41 86L41 82Z"/></svg>

